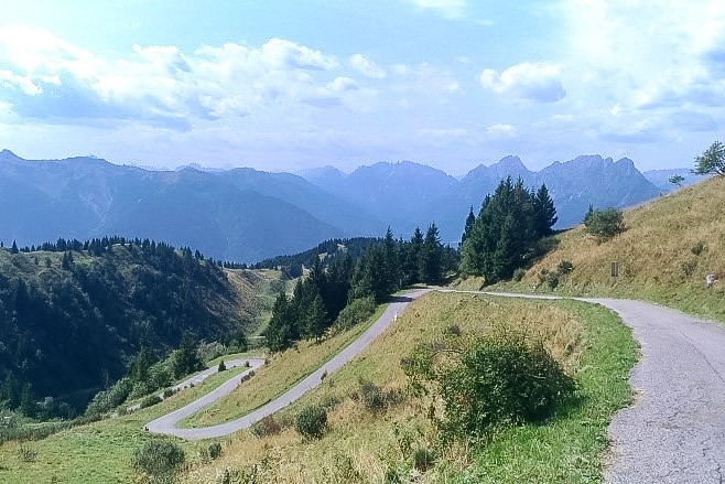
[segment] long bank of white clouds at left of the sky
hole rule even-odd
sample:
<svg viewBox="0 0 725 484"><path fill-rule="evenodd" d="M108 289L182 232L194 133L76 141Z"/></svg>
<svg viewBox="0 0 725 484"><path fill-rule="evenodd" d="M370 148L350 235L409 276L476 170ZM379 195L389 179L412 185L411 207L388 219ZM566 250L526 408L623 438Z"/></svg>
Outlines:
<svg viewBox="0 0 725 484"><path fill-rule="evenodd" d="M21 118L137 119L183 129L194 119L302 103L328 83L312 73L339 68L334 56L281 39L259 49L228 43L191 54L134 45L112 61L24 25L0 28L0 95ZM335 79L331 87L349 90L350 82Z"/></svg>

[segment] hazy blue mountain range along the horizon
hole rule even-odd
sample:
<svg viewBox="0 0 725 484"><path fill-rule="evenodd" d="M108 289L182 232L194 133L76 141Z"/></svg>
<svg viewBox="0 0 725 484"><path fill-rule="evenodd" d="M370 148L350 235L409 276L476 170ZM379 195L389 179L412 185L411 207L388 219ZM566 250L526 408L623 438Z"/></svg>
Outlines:
<svg viewBox="0 0 725 484"><path fill-rule="evenodd" d="M435 221L444 241L459 239L469 207L507 176L545 183L558 227L581 222L588 204L625 207L660 187L631 160L599 155L555 162L540 172L518 157L479 165L458 181L412 163L377 163L350 174L326 166L303 173L151 171L96 158L30 161L0 152L0 240L20 245L104 235L153 238L198 248L214 258L256 261L292 254L333 237L409 236Z"/></svg>

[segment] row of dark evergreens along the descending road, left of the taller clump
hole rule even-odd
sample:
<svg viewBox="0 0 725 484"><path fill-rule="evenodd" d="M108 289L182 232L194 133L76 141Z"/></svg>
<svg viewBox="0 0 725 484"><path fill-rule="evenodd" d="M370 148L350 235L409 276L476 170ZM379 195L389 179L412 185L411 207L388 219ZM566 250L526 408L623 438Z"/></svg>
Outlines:
<svg viewBox="0 0 725 484"><path fill-rule="evenodd" d="M385 239L368 240L374 241L357 265L349 252L332 259L326 267L316 256L292 297L279 294L267 329L271 351L285 349L301 338L322 338L354 300L371 297L382 302L405 286L440 283L443 271L457 263L455 250L442 246L435 224L429 226L425 237L416 228L410 241L396 240L390 228Z"/></svg>

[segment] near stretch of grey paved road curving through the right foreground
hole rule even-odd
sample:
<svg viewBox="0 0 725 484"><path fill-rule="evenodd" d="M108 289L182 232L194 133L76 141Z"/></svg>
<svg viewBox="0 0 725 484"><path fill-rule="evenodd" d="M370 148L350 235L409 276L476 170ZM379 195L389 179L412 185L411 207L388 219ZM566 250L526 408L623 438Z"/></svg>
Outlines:
<svg viewBox="0 0 725 484"><path fill-rule="evenodd" d="M641 346L630 373L635 404L608 429L605 482L725 482L725 329L641 301L573 299L615 311Z"/></svg>

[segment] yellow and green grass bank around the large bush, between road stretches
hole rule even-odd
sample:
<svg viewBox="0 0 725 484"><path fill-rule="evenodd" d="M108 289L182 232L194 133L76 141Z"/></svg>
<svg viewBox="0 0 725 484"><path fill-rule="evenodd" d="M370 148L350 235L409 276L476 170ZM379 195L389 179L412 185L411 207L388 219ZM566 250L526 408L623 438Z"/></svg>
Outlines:
<svg viewBox="0 0 725 484"><path fill-rule="evenodd" d="M543 424L506 429L488 445L466 449L436 444L426 418L428 398L405 398L380 413L350 398L359 391L358 378L387 390L403 390L407 380L400 359L416 344L436 341L453 324L469 334L505 326L540 337L575 376L578 404L561 409ZM636 355L629 330L599 306L429 294L325 385L275 417L284 421L307 404L338 401L321 440L305 441L290 428L261 439L238 432L226 441L219 460L194 465L185 481L215 482L231 469L232 475L253 470L257 481L249 482L385 482L386 473L396 473L402 482L596 482L607 448L607 424L630 401L627 375ZM437 453L435 466L422 474L413 470L412 453L418 449Z"/></svg>

